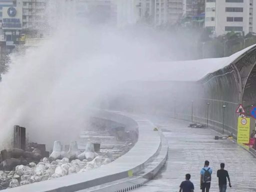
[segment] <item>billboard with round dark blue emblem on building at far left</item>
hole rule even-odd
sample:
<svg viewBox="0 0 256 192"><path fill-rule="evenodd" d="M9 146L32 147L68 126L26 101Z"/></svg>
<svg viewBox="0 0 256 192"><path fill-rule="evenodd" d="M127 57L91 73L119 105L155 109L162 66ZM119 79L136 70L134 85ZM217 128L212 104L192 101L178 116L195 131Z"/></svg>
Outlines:
<svg viewBox="0 0 256 192"><path fill-rule="evenodd" d="M22 7L2 7L2 28L22 28Z"/></svg>

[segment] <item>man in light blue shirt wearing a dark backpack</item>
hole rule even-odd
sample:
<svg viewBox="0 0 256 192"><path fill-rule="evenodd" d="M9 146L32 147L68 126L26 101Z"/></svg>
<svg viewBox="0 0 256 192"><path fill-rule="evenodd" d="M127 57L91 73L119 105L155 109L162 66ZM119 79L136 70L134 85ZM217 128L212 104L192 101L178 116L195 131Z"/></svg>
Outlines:
<svg viewBox="0 0 256 192"><path fill-rule="evenodd" d="M212 169L209 167L209 161L205 160L204 167L200 171L200 188L202 192L209 192Z"/></svg>

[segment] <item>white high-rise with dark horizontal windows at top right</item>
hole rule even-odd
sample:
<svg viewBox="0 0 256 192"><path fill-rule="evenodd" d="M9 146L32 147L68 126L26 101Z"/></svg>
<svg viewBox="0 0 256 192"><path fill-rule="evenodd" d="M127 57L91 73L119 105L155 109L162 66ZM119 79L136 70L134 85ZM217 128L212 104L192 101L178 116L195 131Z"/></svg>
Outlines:
<svg viewBox="0 0 256 192"><path fill-rule="evenodd" d="M230 31L256 32L256 2L253 0L206 0L205 28L216 35Z"/></svg>

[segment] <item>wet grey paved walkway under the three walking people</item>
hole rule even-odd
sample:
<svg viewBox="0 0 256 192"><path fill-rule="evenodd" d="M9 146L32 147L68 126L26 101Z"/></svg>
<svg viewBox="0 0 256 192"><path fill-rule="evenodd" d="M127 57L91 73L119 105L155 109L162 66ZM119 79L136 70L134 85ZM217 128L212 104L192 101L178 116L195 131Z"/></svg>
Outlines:
<svg viewBox="0 0 256 192"><path fill-rule="evenodd" d="M178 191L186 173L191 174L194 191L201 191L199 172L204 160L209 160L213 169L210 191L219 191L216 171L221 162L231 179L232 187L226 191L256 191L256 158L248 151L228 139L214 140L220 134L208 128L189 128L189 122L175 119L149 119L162 128L168 139L168 159L153 180L134 191Z"/></svg>

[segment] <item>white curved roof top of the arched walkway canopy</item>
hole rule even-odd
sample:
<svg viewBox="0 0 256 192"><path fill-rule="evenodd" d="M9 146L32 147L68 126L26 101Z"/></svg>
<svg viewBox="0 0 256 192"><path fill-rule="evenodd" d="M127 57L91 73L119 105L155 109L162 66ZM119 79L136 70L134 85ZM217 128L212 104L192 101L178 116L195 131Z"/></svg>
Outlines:
<svg viewBox="0 0 256 192"><path fill-rule="evenodd" d="M146 67L142 69L143 77L142 79L138 79L197 81L205 78L207 75L210 75L219 69L230 65L255 47L256 44L251 45L228 57L146 63Z"/></svg>

